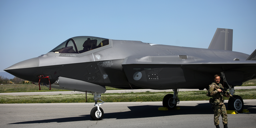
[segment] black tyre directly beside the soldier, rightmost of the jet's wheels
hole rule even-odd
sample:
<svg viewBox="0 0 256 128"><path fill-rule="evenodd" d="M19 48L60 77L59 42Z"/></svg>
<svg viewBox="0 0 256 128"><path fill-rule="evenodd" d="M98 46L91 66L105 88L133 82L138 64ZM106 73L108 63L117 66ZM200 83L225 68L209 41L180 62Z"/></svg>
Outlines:
<svg viewBox="0 0 256 128"><path fill-rule="evenodd" d="M234 98L229 98L228 110L236 110L238 113L241 113L244 109L244 101L238 95L234 95L233 97L236 98L236 100Z"/></svg>

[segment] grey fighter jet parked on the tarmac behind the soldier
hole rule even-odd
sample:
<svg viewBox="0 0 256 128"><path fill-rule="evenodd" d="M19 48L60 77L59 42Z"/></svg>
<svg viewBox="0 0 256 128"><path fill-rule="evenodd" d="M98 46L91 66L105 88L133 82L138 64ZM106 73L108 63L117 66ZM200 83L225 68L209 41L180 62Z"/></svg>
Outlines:
<svg viewBox="0 0 256 128"><path fill-rule="evenodd" d="M104 103L100 98L105 86L173 89L174 94L164 96L162 103L174 109L180 102L178 89L208 89L215 74L221 74L232 95L234 86L256 78L256 50L251 55L233 52L232 36L232 29L217 28L208 49L76 36L5 71L49 88L92 93L93 120L104 116L99 106ZM234 98L228 100L228 108L241 112L243 100L237 95Z"/></svg>

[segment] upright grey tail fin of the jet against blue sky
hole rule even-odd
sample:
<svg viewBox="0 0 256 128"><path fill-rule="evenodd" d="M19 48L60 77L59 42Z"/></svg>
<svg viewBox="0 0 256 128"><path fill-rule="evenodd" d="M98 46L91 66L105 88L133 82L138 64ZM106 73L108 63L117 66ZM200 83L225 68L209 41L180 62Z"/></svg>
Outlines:
<svg viewBox="0 0 256 128"><path fill-rule="evenodd" d="M233 29L217 28L208 49L232 51Z"/></svg>

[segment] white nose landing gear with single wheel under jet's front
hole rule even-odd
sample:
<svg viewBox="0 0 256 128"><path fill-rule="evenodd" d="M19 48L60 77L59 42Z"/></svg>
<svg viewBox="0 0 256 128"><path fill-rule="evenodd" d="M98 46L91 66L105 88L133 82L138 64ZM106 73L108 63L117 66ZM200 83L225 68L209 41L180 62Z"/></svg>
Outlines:
<svg viewBox="0 0 256 128"><path fill-rule="evenodd" d="M100 105L102 105L105 102L100 99L101 93L92 92L92 94L94 95L94 97L93 97L94 101L95 101L94 106L96 106L96 107L92 108L92 110L91 110L91 118L92 118L92 120L101 120L104 116L104 111L102 110L102 108L100 108ZM102 103L98 104L98 100L100 100Z"/></svg>

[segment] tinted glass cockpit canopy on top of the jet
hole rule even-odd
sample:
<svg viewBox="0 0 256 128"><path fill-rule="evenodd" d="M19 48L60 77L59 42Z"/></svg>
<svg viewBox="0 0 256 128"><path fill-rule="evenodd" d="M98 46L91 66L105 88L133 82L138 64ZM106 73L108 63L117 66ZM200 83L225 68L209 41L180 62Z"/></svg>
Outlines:
<svg viewBox="0 0 256 128"><path fill-rule="evenodd" d="M109 44L108 39L93 36L70 38L51 50L55 53L83 53Z"/></svg>

